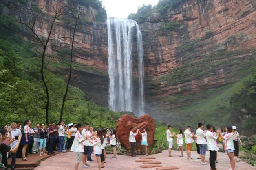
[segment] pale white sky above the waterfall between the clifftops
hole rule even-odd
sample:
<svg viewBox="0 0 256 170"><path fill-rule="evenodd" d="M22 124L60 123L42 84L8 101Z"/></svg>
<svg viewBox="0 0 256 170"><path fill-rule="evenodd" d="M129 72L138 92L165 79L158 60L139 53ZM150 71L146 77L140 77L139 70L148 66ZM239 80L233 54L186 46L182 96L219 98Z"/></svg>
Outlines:
<svg viewBox="0 0 256 170"><path fill-rule="evenodd" d="M136 13L139 6L151 4L155 6L159 0L102 0L108 17L127 18Z"/></svg>

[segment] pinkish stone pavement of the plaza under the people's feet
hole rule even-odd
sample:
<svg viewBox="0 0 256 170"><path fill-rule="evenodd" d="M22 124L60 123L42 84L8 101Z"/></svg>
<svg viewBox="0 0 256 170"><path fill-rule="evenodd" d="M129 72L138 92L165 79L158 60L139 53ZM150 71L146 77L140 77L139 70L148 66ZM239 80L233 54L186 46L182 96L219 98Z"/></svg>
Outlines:
<svg viewBox="0 0 256 170"><path fill-rule="evenodd" d="M159 154L149 155L150 157L155 157L156 159L152 159L153 161L161 161L161 166L177 166L180 170L210 170L210 165L201 165L200 159L196 159L198 154L196 151L192 151L192 157L194 160L186 159L186 154L184 153L184 157L179 157L180 151L172 151L172 155L174 157L168 157L168 151L163 151ZM144 165L142 162L135 162L135 160L139 160L140 157L130 157L130 156L121 156L117 155L117 159L110 159L112 155L107 155L105 168L103 170L156 170L156 168L140 168L141 165ZM92 159L95 159L95 155L92 155ZM61 169L61 170L73 170L74 164L76 160L76 154L73 152L62 153L59 155L55 155L42 161L38 167L34 170L53 170L53 169ZM205 160L209 161L209 151L206 153ZM87 169L97 170L97 164L94 161L93 163L88 163L90 166ZM86 168L82 168L82 163L79 166L79 170L83 170ZM218 164L216 164L216 168L218 170L228 170L230 168L230 161L228 156L225 153L218 152ZM241 161L236 162L236 170L256 170L255 167Z"/></svg>

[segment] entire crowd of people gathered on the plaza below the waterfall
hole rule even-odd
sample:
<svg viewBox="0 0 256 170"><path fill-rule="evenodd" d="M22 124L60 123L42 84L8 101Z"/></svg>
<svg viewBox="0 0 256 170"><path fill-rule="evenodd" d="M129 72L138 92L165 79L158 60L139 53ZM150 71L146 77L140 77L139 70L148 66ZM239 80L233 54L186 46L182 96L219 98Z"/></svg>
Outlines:
<svg viewBox="0 0 256 170"><path fill-rule="evenodd" d="M202 123L198 123L196 133L192 132L192 128L188 128L184 131L179 129L178 134L171 133L171 126L167 126L166 136L169 144L169 157L173 157L172 146L173 138L177 138L177 145L180 148L181 155L183 157L183 137L185 137L186 154L189 160L193 160L191 157L191 151L194 141L196 142L198 159L201 159L201 165L207 165L205 162L206 149L210 151L209 163L211 170L216 170L217 151L219 151L219 143L223 144L223 148L226 151L227 156L230 159L231 169L235 169L234 156L236 161L239 154L238 142L242 143L239 138L239 133L236 131L236 126L222 127L221 130L216 130L214 126L208 124L204 130ZM136 133L134 133L136 131ZM141 145L145 147L145 156L148 156L148 134L147 129L143 128L141 132L139 129L130 127L129 142L131 146L131 156L136 157L134 154L136 146L136 137L141 136ZM0 129L0 170L7 169L7 159L12 157L11 169L15 169L16 158L20 157L22 161L28 161L28 154L43 155L55 154L55 151L66 152L71 150L77 154L75 163L75 170L78 169L79 164L82 162L83 168L88 168L89 163L92 163L92 154L95 154L97 166L99 170L105 167L106 163L106 146L110 145L113 150L113 157L111 159L117 159L117 134L115 128L99 127L95 129L90 127L88 123L82 124L69 124L65 125L64 121L61 121L60 125L55 125L54 122L48 126L43 123L36 123L35 127L31 124L29 119L26 119L24 124L13 121L11 126L4 125Z"/></svg>

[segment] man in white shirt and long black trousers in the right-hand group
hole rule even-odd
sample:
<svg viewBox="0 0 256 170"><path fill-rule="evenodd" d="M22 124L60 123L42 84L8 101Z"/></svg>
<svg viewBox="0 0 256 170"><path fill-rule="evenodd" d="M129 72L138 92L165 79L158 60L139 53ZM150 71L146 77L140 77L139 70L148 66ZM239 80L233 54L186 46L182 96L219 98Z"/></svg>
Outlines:
<svg viewBox="0 0 256 170"><path fill-rule="evenodd" d="M206 128L207 128L207 132L205 133L205 135L207 139L208 150L210 151L209 162L210 162L211 170L216 170L215 161L217 158L217 151L219 150L218 143L216 140L218 139L218 136L221 132L218 131L217 135L214 135L212 133L213 131L212 125L208 124L206 125Z"/></svg>

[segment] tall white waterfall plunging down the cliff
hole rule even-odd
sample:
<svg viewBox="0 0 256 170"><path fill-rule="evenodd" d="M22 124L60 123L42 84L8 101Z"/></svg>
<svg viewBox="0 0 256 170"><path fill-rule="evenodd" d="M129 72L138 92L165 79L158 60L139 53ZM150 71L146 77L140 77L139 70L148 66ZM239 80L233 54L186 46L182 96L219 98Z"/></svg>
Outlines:
<svg viewBox="0 0 256 170"><path fill-rule="evenodd" d="M144 113L143 42L139 25L131 19L108 18L108 74L109 106L114 111ZM132 44L137 39L139 92L138 102L133 98Z"/></svg>

